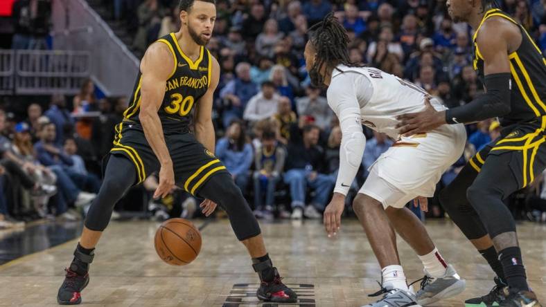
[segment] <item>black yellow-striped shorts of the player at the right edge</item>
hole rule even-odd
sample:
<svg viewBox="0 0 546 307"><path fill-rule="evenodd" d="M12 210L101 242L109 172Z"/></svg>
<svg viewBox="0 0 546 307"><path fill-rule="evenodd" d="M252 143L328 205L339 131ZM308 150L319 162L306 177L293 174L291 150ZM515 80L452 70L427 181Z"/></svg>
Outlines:
<svg viewBox="0 0 546 307"><path fill-rule="evenodd" d="M491 155L502 157L495 160L502 161L497 167L510 167L518 187L529 185L546 167L546 116L502 129L500 137L477 152L468 165L479 173Z"/></svg>

